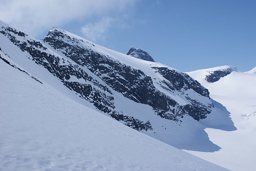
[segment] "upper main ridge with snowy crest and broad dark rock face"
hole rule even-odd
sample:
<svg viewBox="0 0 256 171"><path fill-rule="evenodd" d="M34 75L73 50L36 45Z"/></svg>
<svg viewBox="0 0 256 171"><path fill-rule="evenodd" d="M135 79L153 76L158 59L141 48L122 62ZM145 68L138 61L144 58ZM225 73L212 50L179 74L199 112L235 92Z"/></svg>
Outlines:
<svg viewBox="0 0 256 171"><path fill-rule="evenodd" d="M162 118L181 121L187 114L199 120L211 112L208 90L178 70L117 53L61 29L52 29L43 41L55 53L71 59L104 81L109 91L151 106ZM113 95L110 100L113 104L114 99ZM114 110L115 106L108 105L108 110L96 107L117 119L123 114Z"/></svg>

